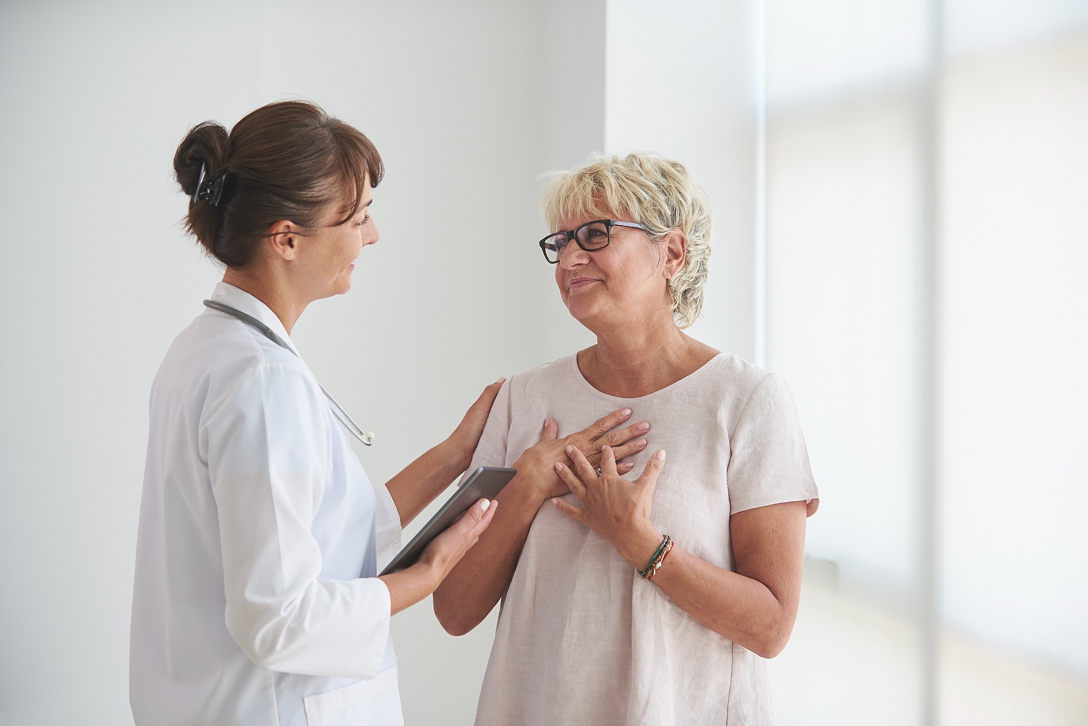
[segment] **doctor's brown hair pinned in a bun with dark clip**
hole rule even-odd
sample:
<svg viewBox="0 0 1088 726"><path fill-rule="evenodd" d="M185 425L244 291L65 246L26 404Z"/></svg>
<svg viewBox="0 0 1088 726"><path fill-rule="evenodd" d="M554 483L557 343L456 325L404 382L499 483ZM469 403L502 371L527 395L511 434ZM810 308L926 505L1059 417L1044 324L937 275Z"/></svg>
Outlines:
<svg viewBox="0 0 1088 726"><path fill-rule="evenodd" d="M206 184L223 177L218 204L193 201L201 165ZM189 196L185 228L230 267L252 262L279 220L314 227L331 204L343 202L337 224L344 224L359 211L367 180L376 187L384 173L370 139L305 101L262 105L230 135L215 122L197 124L174 154L177 184Z"/></svg>

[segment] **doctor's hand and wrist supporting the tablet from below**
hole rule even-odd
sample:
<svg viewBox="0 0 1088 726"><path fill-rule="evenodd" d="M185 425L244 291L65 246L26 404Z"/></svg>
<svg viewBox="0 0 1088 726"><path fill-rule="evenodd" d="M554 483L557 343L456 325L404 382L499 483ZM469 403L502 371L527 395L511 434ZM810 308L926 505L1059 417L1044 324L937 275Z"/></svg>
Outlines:
<svg viewBox="0 0 1088 726"><path fill-rule="evenodd" d="M379 579L390 590L391 614L396 615L434 592L454 565L480 540L497 509L498 502L479 500L431 540L416 564L400 572L381 575Z"/></svg>

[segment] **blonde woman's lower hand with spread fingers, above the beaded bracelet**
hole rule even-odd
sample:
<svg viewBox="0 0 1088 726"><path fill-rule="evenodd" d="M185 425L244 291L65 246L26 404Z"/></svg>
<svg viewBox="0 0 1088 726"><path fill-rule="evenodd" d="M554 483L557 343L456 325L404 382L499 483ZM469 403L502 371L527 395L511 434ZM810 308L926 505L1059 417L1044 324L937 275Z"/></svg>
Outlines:
<svg viewBox="0 0 1088 726"><path fill-rule="evenodd" d="M662 540L650 521L650 512L657 477L665 467L665 451L651 456L642 476L634 481L620 478L611 447L604 448L599 470L578 449L568 448L567 455L573 462L573 470L556 463L555 471L582 506L561 499L553 499L552 503L611 542L625 560L636 567L645 566L653 554L650 544L656 547Z"/></svg>

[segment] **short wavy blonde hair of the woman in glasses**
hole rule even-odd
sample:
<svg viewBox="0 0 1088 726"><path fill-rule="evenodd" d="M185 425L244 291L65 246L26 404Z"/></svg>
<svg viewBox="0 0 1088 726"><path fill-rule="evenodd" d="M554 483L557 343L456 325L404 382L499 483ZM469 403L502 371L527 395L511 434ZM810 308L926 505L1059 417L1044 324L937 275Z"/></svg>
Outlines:
<svg viewBox="0 0 1088 726"><path fill-rule="evenodd" d="M547 176L541 209L553 231L564 220L614 214L640 223L655 241L673 229L683 233L683 266L669 280L672 320L680 328L698 320L713 220L706 192L683 164L650 153L595 153L583 166Z"/></svg>

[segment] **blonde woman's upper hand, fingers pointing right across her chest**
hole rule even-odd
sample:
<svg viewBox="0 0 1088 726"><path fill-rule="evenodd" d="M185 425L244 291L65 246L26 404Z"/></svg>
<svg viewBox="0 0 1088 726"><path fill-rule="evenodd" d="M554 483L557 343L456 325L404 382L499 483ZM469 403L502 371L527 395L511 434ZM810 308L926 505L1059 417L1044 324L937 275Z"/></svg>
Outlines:
<svg viewBox="0 0 1088 726"><path fill-rule="evenodd" d="M588 461L596 467L602 461L602 448L609 447L617 474L627 474L634 468L634 464L622 460L646 448L646 439L640 437L650 430L650 422L646 421L619 428L630 417L630 409L613 411L582 430L562 438L558 438L558 424L554 418L548 418L544 422L540 440L522 452L514 463L514 468L518 470L518 478L536 490L539 501L567 493L567 485L559 478L554 462L567 456L565 452L569 452L571 448L578 450L579 454L582 451L591 452Z"/></svg>

